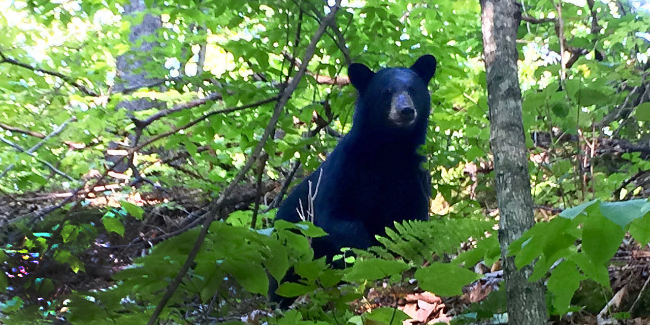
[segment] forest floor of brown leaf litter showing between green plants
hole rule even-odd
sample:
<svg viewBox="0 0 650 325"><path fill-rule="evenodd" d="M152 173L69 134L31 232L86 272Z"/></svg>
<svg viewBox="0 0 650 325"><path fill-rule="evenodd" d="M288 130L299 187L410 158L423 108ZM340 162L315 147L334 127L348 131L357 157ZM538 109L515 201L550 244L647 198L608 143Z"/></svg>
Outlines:
<svg viewBox="0 0 650 325"><path fill-rule="evenodd" d="M265 184L263 195L273 196L278 187L275 183ZM47 220L47 217L41 218L36 213L57 207L69 195L69 192L62 191L0 196L0 222L6 227L17 220L27 219L28 224L34 223L38 229L40 224L45 224L42 220ZM250 209L256 196L254 186L242 185L228 199L227 209ZM200 191L181 188L172 192L135 192L128 197L119 192L105 191L87 197L83 209L75 211L75 218L95 218L97 221L112 207L119 207L122 200L143 207L146 210L145 218L129 218L123 237L114 233L100 233L90 248L79 256L84 264L84 272L75 273L70 267L58 265L53 261L36 262L34 256L8 254L9 259L3 263L3 271L8 276L12 289L6 292L5 298L33 294L34 292L19 291L21 284L31 278L30 274L58 283L59 287L53 291L50 298L71 291L107 288L112 284L112 274L131 265L136 257L146 254L151 246L193 227L193 222L198 220L198 216L203 214L209 203ZM8 235L5 240L17 243L22 239ZM16 265L23 266L15 267ZM466 312L468 308L476 315L495 311L503 313L504 308L497 302L498 298L488 298L491 292L497 292L496 289L502 282L500 266L498 263L491 266L480 263L474 269L484 274L484 277L465 287L462 296L441 298L431 292L422 292L415 285L408 283L396 290L395 287L388 288L385 283L378 282L374 288L369 289L363 301L357 300L351 307L359 314L377 307L397 307L411 317L404 322L411 325L446 323L452 317ZM572 303L584 307L562 319L551 318L549 324L650 324L649 246L641 247L626 237L610 261L608 270L612 292L594 283L582 281ZM441 275L441 280L444 281L444 275ZM298 302L305 300L308 298L299 299ZM270 309L260 309L265 305L264 302L262 297L251 297L247 303L231 309L237 314L233 317L239 317L248 324L263 322L260 317L272 312ZM499 324L500 321L502 320L494 318L490 324Z"/></svg>

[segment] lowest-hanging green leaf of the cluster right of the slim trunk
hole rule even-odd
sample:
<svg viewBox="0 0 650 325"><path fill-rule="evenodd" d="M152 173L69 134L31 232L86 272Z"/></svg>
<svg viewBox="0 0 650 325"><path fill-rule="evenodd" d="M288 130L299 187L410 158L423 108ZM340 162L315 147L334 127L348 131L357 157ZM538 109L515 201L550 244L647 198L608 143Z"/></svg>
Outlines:
<svg viewBox="0 0 650 325"><path fill-rule="evenodd" d="M553 270L547 287L553 294L553 307L559 315L564 315L569 309L573 293L580 286L582 279L584 276L578 272L572 261L563 261Z"/></svg>

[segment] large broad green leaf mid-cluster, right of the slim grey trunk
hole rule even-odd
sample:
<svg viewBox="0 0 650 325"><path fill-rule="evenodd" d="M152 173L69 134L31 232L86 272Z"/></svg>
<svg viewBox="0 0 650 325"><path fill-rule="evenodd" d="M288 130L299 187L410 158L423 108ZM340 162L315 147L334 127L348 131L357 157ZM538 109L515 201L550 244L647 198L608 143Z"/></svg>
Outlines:
<svg viewBox="0 0 650 325"><path fill-rule="evenodd" d="M595 206L587 209L582 227L582 250L596 264L609 261L623 240L625 230L601 214Z"/></svg>

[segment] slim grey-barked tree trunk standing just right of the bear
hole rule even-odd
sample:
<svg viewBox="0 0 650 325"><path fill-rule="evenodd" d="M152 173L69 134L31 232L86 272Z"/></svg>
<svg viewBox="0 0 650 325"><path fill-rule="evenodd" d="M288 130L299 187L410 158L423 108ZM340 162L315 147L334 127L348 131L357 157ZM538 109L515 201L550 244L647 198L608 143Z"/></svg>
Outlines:
<svg viewBox="0 0 650 325"><path fill-rule="evenodd" d="M547 323L543 284L528 281L532 266L517 271L513 257L506 257L508 245L535 222L517 77L515 41L521 8L514 0L480 3L508 324L543 325Z"/></svg>

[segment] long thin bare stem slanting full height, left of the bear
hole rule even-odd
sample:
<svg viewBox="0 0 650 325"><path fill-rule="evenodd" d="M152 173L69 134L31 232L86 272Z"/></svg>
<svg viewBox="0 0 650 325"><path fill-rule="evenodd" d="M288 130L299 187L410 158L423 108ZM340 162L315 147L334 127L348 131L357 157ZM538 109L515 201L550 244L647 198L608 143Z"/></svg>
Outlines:
<svg viewBox="0 0 650 325"><path fill-rule="evenodd" d="M151 317L149 317L149 321L147 322L147 325L155 324L156 320L158 319L162 311L162 308L164 308L168 300L172 297L172 294L174 294L178 286L181 284L181 281L185 277L187 270L189 270L192 263L194 263L194 258L198 254L201 248L201 244L203 244L203 240L205 240L205 235L207 235L207 231L210 227L210 224L216 218L216 214L219 213L221 209L221 205L225 200L226 196L230 194L230 192L233 190L235 185L239 183L239 181L244 177L244 174L246 174L246 172L250 170L250 168L253 166L253 163L255 163L255 161L257 160L257 157L259 156L259 153L261 153L262 149L264 148L264 145L266 144L266 140L270 136L271 131L276 127L276 123L278 123L279 116L282 112L282 109L287 104L287 101L289 101L289 97L294 92L294 90L296 90L296 88L298 87L298 83L300 82L300 79L302 79L302 76L307 71L307 63L311 60L311 58L314 55L318 40L320 40L320 38L324 34L325 29L329 25L330 21L335 18L335 15L339 10L340 6L341 6L341 0L337 0L335 5L330 7L330 13L320 22L320 25L318 26L316 33L311 38L311 43L307 45L307 49L305 51L305 57L302 62L302 65L300 66L300 69L298 69L298 72L291 80L291 83L289 83L287 88L283 90L278 102L276 103L273 116L271 116L268 125L266 125L266 129L264 130L262 138L259 140L259 142L257 142L257 146L253 150L253 153L250 155L250 157L248 157L246 164L244 164L244 166L239 171L239 173L237 173L235 179L233 179L233 181L226 188L224 188L224 190L222 190L218 198L216 198L216 200L214 200L213 203L211 204L211 209L209 213L207 213L207 216L205 216L205 221L201 226L201 231L196 239L196 242L194 242L194 247L192 247L192 250L190 250L190 252L188 253L187 259L185 260L185 263L183 263L183 266L181 266L179 272L176 274L174 279L172 279L171 283L168 285L165 294L161 298L161 301L158 303L153 313L151 313Z"/></svg>

